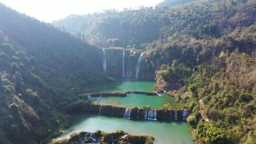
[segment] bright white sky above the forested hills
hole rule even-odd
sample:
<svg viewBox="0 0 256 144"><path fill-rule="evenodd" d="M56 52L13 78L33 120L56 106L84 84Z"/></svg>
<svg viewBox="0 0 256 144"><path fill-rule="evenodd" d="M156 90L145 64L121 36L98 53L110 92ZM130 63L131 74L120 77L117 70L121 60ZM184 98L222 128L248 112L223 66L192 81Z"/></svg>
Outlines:
<svg viewBox="0 0 256 144"><path fill-rule="evenodd" d="M106 9L154 7L163 0L0 0L20 13L52 22L71 14L88 14Z"/></svg>

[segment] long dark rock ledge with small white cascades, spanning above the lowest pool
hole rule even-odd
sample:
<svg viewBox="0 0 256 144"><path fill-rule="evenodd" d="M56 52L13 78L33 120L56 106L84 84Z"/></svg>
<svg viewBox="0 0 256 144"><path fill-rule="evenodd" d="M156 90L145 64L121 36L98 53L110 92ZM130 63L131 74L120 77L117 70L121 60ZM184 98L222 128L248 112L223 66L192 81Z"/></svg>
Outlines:
<svg viewBox="0 0 256 144"><path fill-rule="evenodd" d="M97 113L103 115L111 115L116 117L124 117L128 119L142 118L151 120L182 120L189 115L187 109L148 109L148 108L125 108L110 105L92 104L89 102L72 103L63 110L67 113L86 112Z"/></svg>

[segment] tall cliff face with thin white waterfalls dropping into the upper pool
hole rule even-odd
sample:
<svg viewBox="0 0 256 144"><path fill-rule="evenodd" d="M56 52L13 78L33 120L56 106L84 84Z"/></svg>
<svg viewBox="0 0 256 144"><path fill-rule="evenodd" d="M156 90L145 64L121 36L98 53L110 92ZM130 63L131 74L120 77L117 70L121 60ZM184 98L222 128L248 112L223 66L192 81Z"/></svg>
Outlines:
<svg viewBox="0 0 256 144"><path fill-rule="evenodd" d="M108 75L154 79L155 71L142 53L130 49L99 49L98 67Z"/></svg>

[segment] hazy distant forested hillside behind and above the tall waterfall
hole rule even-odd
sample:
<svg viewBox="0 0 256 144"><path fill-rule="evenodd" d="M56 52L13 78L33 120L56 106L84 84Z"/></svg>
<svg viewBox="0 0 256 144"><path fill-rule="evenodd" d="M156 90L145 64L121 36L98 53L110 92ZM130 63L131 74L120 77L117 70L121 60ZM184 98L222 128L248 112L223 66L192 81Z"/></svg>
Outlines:
<svg viewBox="0 0 256 144"><path fill-rule="evenodd" d="M147 43L162 42L170 36L185 40L189 37L219 38L238 26L248 27L254 21L254 0L206 0L170 9L141 8L71 15L54 21L53 25L74 34L78 32L77 35L84 35L95 45L143 49Z"/></svg>

